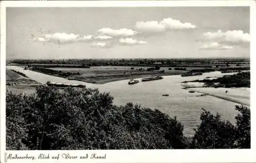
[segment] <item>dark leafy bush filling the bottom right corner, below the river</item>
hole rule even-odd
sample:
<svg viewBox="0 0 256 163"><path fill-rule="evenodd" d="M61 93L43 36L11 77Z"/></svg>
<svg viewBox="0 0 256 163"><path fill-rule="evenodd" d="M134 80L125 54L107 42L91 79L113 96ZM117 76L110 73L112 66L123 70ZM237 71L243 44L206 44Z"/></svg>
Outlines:
<svg viewBox="0 0 256 163"><path fill-rule="evenodd" d="M195 129L191 148L250 148L250 109L236 106L240 113L236 116L236 126L220 119L203 109L201 124Z"/></svg>

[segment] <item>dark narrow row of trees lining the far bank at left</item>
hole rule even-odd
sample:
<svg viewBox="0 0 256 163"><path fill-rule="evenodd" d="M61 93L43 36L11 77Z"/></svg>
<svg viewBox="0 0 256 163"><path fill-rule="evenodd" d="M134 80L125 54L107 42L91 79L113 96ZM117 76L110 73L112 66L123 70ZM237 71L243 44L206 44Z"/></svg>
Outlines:
<svg viewBox="0 0 256 163"><path fill-rule="evenodd" d="M63 78L67 78L71 75L80 75L79 72L76 73L71 73L71 72L62 72L62 71L57 71L55 69L50 69L50 68L45 68L45 67L39 67L39 66L33 66L30 68L32 71L37 71L37 72L41 72L44 74L48 74L48 75L57 75L59 77L63 77Z"/></svg>

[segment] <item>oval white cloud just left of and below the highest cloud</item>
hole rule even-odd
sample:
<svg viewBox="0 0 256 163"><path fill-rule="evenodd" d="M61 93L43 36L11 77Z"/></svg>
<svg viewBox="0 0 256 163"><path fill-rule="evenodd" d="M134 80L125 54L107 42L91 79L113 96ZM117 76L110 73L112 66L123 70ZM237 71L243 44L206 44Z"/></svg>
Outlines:
<svg viewBox="0 0 256 163"><path fill-rule="evenodd" d="M102 28L102 29L99 29L98 32L101 33L101 34L110 35L110 36L113 36L113 37L116 37L116 36L133 36L133 35L137 34L136 31L133 31L131 29L126 29L126 28L119 29L119 30L114 30L114 29L111 29L111 28Z"/></svg>

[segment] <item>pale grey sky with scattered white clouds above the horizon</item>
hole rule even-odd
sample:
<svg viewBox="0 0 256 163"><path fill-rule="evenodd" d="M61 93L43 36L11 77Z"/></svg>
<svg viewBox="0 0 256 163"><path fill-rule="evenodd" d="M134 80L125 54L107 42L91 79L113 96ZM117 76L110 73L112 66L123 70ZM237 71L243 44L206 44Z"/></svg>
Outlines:
<svg viewBox="0 0 256 163"><path fill-rule="evenodd" d="M7 8L7 59L249 57L249 7Z"/></svg>

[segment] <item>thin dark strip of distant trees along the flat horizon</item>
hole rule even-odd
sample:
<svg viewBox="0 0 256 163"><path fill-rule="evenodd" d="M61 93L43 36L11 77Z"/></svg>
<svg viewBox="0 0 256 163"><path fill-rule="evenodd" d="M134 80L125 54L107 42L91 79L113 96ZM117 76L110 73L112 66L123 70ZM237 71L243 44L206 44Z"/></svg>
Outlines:
<svg viewBox="0 0 256 163"><path fill-rule="evenodd" d="M233 60L230 58L178 58L178 59L167 59L167 58L134 58L134 59L61 59L61 60L28 60L28 59L15 59L12 61L17 64L87 64L88 66L98 66L98 65L138 65L138 66L148 66L152 64L162 64L164 66L178 66L177 64L195 64L198 67L212 67L209 64L243 64L244 62L249 62L248 59L237 59ZM200 65L205 64L205 65ZM207 65L208 64L208 65ZM189 65L184 65L189 66Z"/></svg>

